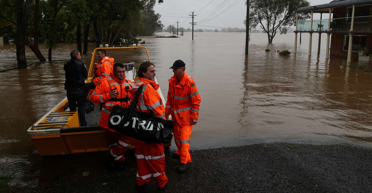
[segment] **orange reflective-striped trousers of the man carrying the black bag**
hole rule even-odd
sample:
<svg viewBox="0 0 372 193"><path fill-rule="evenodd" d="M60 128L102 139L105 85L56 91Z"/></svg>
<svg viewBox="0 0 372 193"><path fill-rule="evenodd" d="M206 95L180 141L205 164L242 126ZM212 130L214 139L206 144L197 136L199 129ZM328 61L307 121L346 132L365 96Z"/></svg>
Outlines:
<svg viewBox="0 0 372 193"><path fill-rule="evenodd" d="M151 182L154 177L158 187L168 182L165 175L165 154L163 143L144 143L134 140L135 156L137 160L137 185L142 186Z"/></svg>

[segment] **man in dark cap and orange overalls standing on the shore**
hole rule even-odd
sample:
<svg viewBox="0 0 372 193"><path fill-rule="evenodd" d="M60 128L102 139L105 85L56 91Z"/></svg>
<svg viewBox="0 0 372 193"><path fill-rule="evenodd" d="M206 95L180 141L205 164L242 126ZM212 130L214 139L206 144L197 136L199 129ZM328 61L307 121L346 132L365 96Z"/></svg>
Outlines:
<svg viewBox="0 0 372 193"><path fill-rule="evenodd" d="M185 63L182 60L176 60L170 69L174 76L168 80L165 117L169 119L171 115L174 123L174 141L178 150L172 157L181 160L178 171L185 172L192 162L190 135L192 126L198 122L201 98L195 81L185 73Z"/></svg>

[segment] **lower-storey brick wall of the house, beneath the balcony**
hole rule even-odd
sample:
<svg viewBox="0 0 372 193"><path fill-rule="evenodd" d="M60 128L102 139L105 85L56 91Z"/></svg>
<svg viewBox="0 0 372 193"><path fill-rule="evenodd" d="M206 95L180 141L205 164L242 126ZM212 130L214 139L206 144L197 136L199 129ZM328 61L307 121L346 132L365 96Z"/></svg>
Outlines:
<svg viewBox="0 0 372 193"><path fill-rule="evenodd" d="M331 35L331 45L330 45L330 55L338 57L347 57L347 51L343 51L343 39L344 35L349 35L347 33L333 33ZM366 46L368 50L372 50L372 34L360 34L367 36ZM358 58L357 52L352 52L352 59Z"/></svg>

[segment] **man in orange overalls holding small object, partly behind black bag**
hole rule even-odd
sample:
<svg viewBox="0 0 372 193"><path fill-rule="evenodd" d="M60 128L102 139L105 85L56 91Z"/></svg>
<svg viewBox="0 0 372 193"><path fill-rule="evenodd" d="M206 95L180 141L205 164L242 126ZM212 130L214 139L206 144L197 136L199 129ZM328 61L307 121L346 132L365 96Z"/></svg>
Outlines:
<svg viewBox="0 0 372 193"><path fill-rule="evenodd" d="M107 130L107 137L110 144L110 154L113 160L110 163L113 167L121 169L125 160L124 153L133 143L133 138L118 133L108 127L109 115L112 107L116 104L129 107L131 81L125 79L125 66L121 63L114 65L113 76L100 81L92 93L92 101L102 104L101 119L99 126Z"/></svg>

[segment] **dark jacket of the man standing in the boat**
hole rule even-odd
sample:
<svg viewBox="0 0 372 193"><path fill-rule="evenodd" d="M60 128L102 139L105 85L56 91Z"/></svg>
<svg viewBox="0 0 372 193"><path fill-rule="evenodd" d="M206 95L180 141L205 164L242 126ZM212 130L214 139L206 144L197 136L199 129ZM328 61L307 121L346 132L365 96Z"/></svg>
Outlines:
<svg viewBox="0 0 372 193"><path fill-rule="evenodd" d="M86 90L84 79L88 77L88 71L84 63L76 59L66 61L63 69L65 70L65 89L79 88Z"/></svg>

